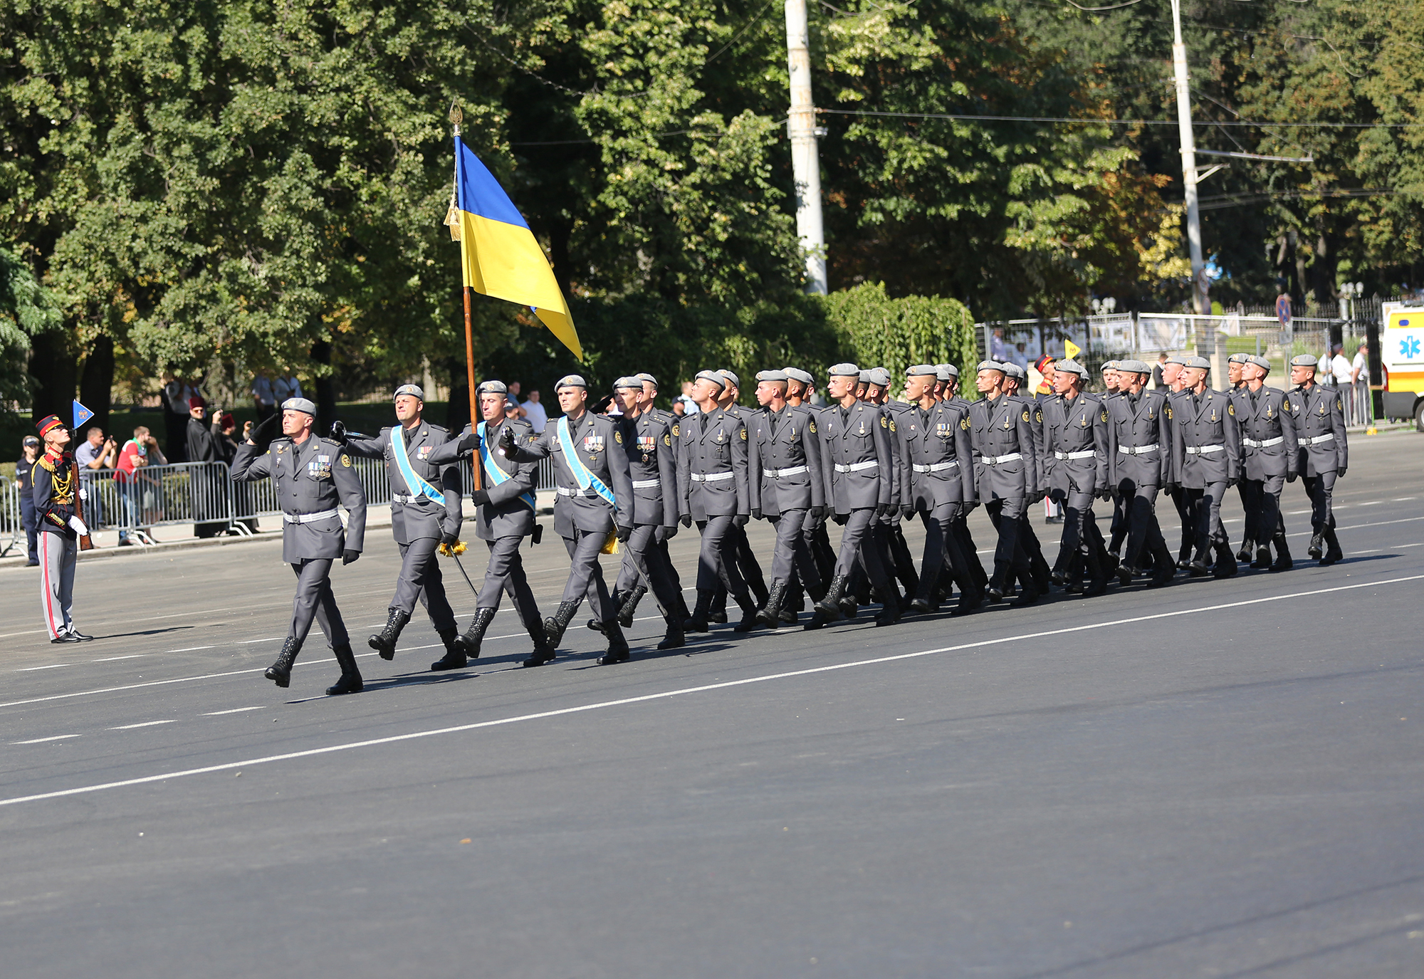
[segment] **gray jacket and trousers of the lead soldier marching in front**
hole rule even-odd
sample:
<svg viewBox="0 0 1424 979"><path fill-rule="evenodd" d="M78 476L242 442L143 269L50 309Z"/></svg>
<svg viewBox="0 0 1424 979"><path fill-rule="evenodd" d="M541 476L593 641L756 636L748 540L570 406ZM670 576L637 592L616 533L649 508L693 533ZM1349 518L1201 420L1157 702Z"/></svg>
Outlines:
<svg viewBox="0 0 1424 979"><path fill-rule="evenodd" d="M232 460L234 482L272 477L282 508L282 561L296 573L296 598L288 642L300 647L312 628L320 626L332 649L350 643L346 623L332 593L332 561L346 551L360 552L366 536L366 494L352 468L352 458L329 438L308 438L298 445L275 438L266 453L238 445ZM342 528L336 505L346 508Z"/></svg>

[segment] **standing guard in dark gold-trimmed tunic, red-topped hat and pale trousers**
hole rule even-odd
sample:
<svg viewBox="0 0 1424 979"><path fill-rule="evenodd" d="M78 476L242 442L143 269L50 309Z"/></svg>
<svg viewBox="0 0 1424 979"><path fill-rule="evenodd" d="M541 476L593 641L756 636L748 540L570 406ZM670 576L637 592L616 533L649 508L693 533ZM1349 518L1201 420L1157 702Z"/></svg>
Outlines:
<svg viewBox="0 0 1424 979"><path fill-rule="evenodd" d="M30 498L40 524L40 603L44 628L51 643L74 643L85 636L74 628L74 566L78 562L80 538L88 536L88 526L78 515L77 497L81 492L74 457L64 451L70 444L70 430L58 416L50 416L36 425L44 440L44 453L30 467Z"/></svg>

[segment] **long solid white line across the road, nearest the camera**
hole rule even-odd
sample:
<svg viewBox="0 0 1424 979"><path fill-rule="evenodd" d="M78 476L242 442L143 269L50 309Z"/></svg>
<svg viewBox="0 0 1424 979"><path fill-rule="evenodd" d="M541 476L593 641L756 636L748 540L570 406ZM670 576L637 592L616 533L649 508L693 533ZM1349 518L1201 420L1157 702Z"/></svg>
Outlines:
<svg viewBox="0 0 1424 979"><path fill-rule="evenodd" d="M36 795L17 795L14 798L0 798L0 807L3 805L19 805L21 803L38 803L48 798L64 798L66 795L84 795L88 793L100 793L110 788L127 788L130 785L147 785L155 781L167 781L169 778L185 778L188 776L205 776L214 771L231 771L232 768L245 768L248 766L271 764L273 761L290 761L293 758L312 758L322 754L333 754L336 751L352 751L356 748L377 747L382 744L397 744L400 741L414 741L426 737L437 737L441 734L459 734L463 731L474 731L484 727L501 727L504 724L517 724L525 720L543 720L545 717L565 717L568 714L581 714L590 710L602 710L605 707L622 707L627 704L646 703L649 700L664 700L666 697L682 697L692 693L706 693L709 690L728 690L731 687L748 686L752 683L766 683L769 680L786 680L797 676L812 676L816 673L830 673L833 670L847 670L857 666L879 666L880 663L894 663L907 659L918 659L921 656L936 656L938 653L957 653L965 649L980 649L984 646L1001 646L1004 643L1025 642L1028 639L1045 639L1048 636L1064 636L1072 632L1088 632L1089 629L1108 629L1112 626L1126 626L1136 625L1139 622L1153 622L1156 619L1173 619L1183 615L1199 615L1202 612L1220 612L1222 609L1239 609L1247 605L1263 605L1266 602L1283 602L1296 598L1312 598L1314 595L1330 595L1333 592L1350 592L1358 588L1380 588L1383 585L1400 585L1404 582L1424 581L1424 575L1407 575L1404 578L1386 578L1384 581L1374 582L1358 582L1356 585L1336 585L1333 588L1314 588L1309 592L1292 592L1289 595L1270 595L1267 598L1252 598L1243 599L1240 602L1222 602L1219 605L1205 605L1193 609L1178 609L1175 612L1155 612L1152 615L1139 615L1131 619L1109 619L1106 622L1094 622L1084 626L1065 626L1062 629L1045 629L1042 632L1022 633L1018 636L1000 636L997 639L980 639L975 642L961 643L958 646L940 646L938 649L921 649L914 653L896 653L893 656L877 656L874 659L860 659L850 663L832 663L829 666L813 666L805 670L787 670L785 673L766 673L762 676L749 676L743 680L725 680L721 683L705 683L696 687L682 687L678 690L665 690L662 693L645 693L638 697L621 697L618 700L600 700L598 703L582 704L580 707L561 707L558 710L541 710L534 714L518 714L515 717L501 717L498 720L483 720L473 724L456 724L454 727L436 727L424 731L410 731L409 734L392 734L389 737L373 737L365 741L347 741L345 744L330 744L325 748L306 748L303 751L288 751L286 754L269 754L259 758L244 758L242 761L226 761L224 764L205 766L202 768L182 768L179 771L165 771L158 776L144 776L141 778L124 778L122 781L107 781L97 785L80 785L77 788L61 788L53 793L38 793Z"/></svg>

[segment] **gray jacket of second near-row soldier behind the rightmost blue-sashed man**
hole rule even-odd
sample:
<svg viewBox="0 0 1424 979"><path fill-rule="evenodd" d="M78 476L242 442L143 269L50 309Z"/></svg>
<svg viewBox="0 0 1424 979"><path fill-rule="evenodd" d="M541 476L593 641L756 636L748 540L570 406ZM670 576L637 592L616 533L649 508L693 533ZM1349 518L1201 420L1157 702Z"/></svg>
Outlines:
<svg viewBox="0 0 1424 979"><path fill-rule="evenodd" d="M746 423L713 408L678 423L678 499L695 521L750 514Z"/></svg>

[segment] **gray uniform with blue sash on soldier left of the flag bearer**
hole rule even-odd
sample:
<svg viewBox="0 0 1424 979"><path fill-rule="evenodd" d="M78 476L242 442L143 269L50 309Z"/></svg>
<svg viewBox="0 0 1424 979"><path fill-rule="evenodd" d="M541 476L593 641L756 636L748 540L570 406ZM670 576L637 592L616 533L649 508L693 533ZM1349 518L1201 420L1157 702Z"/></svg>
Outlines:
<svg viewBox="0 0 1424 979"><path fill-rule="evenodd" d="M460 532L460 471L454 465L431 461L436 450L450 441L450 433L429 421L403 431L412 472L443 494L443 498L431 499L422 494L419 487L406 485L390 440L393 428L393 425L382 428L375 438L355 435L346 438L346 451L352 455L386 462L386 481L390 484L390 532L396 538L396 546L400 548L400 573L396 578L396 595L390 599L390 609L409 616L416 610L419 600L426 606L436 632L450 632L456 628L454 610L446 598L436 548L446 534Z"/></svg>

